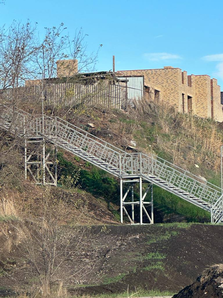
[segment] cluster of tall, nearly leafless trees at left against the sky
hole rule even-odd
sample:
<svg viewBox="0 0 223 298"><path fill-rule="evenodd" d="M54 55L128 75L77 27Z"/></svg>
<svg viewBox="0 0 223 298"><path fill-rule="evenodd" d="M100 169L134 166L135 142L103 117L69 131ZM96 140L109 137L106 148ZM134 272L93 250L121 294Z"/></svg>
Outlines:
<svg viewBox="0 0 223 298"><path fill-rule="evenodd" d="M94 69L98 51L87 54L86 35L82 28L77 30L73 38L66 34L66 29L63 23L58 28L45 28L45 36L40 40L37 24L32 24L29 20L26 24L13 21L10 27L0 28L0 114L4 118L8 107L11 106L13 109L13 117L10 116L9 120L10 127L7 132L0 131L2 187L6 185L6 181L10 181L11 175L15 172L10 165L10 154L15 156L24 148L24 138L19 131L27 132L32 117L41 113L43 89L56 76L56 61L66 58L78 59L79 72ZM29 88L25 86L28 80L32 80L34 84ZM67 83L69 80L71 77L68 75L63 82ZM65 94L65 90L66 84L63 84L61 94ZM15 124L21 120L18 109L14 108L18 105L32 115L26 127L21 127L20 123L19 129L17 127L15 130ZM52 105L52 115L55 105L56 101ZM21 164L23 156L18 155L15 160ZM10 172L7 172L7 169L11 169ZM9 180L4 179L5 175L10 177ZM18 174L19 176L21 175Z"/></svg>

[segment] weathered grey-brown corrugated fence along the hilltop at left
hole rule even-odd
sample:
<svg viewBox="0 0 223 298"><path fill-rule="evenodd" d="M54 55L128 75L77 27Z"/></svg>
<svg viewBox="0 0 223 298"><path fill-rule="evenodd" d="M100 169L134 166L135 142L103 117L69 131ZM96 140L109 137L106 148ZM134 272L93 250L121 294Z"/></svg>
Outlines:
<svg viewBox="0 0 223 298"><path fill-rule="evenodd" d="M94 85L79 83L46 84L44 89L40 85L15 89L7 88L4 90L3 98L6 101L11 101L14 98L19 101L40 102L42 90L48 105L102 104L117 109L126 105L126 87L111 83L95 83Z"/></svg>

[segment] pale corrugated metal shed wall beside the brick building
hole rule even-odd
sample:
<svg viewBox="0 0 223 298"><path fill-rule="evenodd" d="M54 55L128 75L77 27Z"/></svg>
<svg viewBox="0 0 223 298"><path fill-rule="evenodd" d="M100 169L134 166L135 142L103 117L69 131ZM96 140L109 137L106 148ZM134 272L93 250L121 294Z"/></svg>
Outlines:
<svg viewBox="0 0 223 298"><path fill-rule="evenodd" d="M144 91L144 77L143 76L117 76L120 80L127 80L127 99L140 100Z"/></svg>

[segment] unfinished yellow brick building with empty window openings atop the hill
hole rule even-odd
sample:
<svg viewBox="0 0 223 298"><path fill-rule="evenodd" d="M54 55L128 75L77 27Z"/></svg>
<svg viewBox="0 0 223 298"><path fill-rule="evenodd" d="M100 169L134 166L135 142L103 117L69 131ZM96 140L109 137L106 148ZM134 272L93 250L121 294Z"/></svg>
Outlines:
<svg viewBox="0 0 223 298"><path fill-rule="evenodd" d="M186 71L172 66L117 71L117 75L143 75L145 85L156 86L160 91L159 98L177 111L223 121L220 86L209 75L187 75Z"/></svg>

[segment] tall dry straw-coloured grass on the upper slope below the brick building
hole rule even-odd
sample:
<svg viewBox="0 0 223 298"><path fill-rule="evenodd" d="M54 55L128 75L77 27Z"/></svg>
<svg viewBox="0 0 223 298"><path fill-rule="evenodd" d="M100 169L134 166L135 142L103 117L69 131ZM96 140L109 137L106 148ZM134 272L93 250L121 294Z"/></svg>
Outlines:
<svg viewBox="0 0 223 298"><path fill-rule="evenodd" d="M178 113L164 102L142 100L134 109L129 108L133 115L131 109L138 111L138 122L155 119L156 145L172 156L173 163L185 168L191 163L204 163L209 169L219 171L223 134L216 122Z"/></svg>

